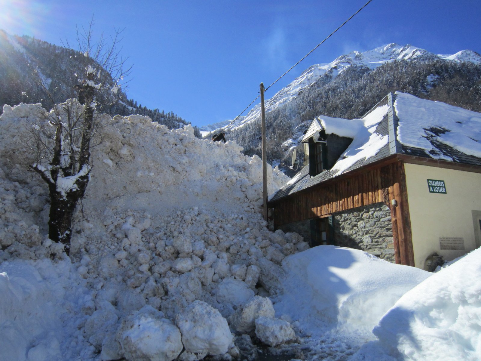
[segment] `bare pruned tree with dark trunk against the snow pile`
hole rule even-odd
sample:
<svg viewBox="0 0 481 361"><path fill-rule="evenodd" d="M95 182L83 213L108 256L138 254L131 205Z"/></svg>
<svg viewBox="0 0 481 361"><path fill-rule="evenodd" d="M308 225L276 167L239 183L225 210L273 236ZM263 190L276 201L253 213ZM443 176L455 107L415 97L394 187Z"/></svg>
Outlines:
<svg viewBox="0 0 481 361"><path fill-rule="evenodd" d="M35 157L30 168L49 188L49 238L61 242L67 254L74 211L90 180L92 148L101 142L99 130L105 125L102 101L115 98L131 69L118 49L121 32L116 30L110 41L101 34L94 42L92 26L93 19L81 32L77 29L78 49L89 61L84 73L76 74L77 99L56 104L48 113L39 107L28 140Z"/></svg>

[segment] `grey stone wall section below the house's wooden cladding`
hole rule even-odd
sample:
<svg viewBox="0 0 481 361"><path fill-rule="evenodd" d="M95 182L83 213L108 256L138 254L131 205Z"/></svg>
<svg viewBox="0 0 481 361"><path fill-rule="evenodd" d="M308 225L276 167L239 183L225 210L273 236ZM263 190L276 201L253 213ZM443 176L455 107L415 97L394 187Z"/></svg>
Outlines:
<svg viewBox="0 0 481 361"><path fill-rule="evenodd" d="M391 212L384 203L334 213L333 225L336 245L394 262Z"/></svg>

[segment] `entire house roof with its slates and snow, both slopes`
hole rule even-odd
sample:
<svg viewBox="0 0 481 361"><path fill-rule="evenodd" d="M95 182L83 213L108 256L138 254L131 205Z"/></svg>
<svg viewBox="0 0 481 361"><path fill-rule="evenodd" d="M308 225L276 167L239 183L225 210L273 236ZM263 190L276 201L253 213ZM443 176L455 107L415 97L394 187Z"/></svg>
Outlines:
<svg viewBox="0 0 481 361"><path fill-rule="evenodd" d="M353 141L331 169L310 177L308 168L304 167L284 184L271 202L392 154L481 165L480 113L401 92L392 96L395 102L389 99L386 96L361 119L316 117L303 142L323 129L326 133L350 136ZM392 132L397 133L395 148L388 147L394 141L389 136Z"/></svg>

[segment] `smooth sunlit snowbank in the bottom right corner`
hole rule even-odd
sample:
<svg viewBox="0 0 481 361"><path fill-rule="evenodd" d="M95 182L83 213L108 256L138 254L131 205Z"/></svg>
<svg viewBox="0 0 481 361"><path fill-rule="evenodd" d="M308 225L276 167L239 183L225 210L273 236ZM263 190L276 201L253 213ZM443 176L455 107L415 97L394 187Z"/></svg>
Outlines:
<svg viewBox="0 0 481 361"><path fill-rule="evenodd" d="M401 297L374 328L404 360L481 359L481 249Z"/></svg>

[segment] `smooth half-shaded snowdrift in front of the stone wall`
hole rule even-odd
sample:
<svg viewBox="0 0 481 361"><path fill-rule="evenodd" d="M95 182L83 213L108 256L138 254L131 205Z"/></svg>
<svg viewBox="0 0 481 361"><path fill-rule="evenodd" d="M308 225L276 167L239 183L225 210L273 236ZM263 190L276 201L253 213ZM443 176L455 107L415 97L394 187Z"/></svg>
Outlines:
<svg viewBox="0 0 481 361"><path fill-rule="evenodd" d="M322 322L371 330L427 271L389 263L366 252L322 245L284 259L277 314L318 329Z"/></svg>

